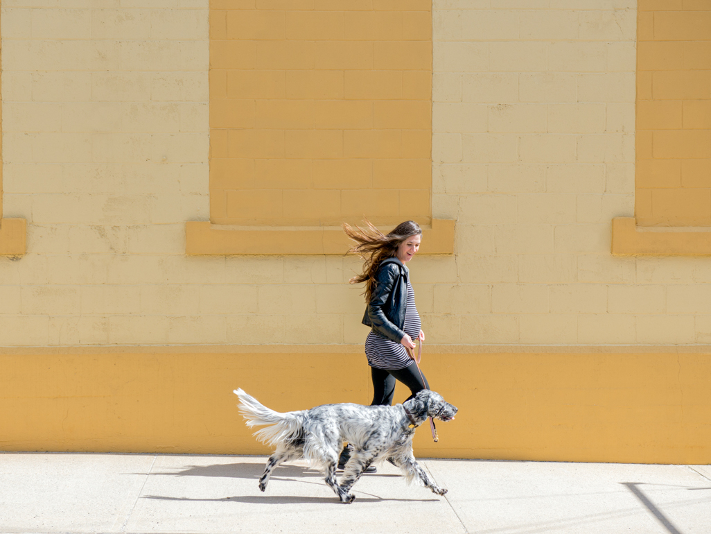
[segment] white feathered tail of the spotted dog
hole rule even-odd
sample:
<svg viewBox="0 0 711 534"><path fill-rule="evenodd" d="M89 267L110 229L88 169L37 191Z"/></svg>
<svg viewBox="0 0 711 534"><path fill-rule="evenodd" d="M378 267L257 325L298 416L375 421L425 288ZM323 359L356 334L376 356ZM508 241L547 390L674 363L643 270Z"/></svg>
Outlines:
<svg viewBox="0 0 711 534"><path fill-rule="evenodd" d="M287 412L281 414L260 404L255 397L247 394L242 388L233 391L240 397L240 414L247 421L247 426L268 425L255 432L255 437L262 443L274 446L286 439L294 439L301 434L301 413Z"/></svg>

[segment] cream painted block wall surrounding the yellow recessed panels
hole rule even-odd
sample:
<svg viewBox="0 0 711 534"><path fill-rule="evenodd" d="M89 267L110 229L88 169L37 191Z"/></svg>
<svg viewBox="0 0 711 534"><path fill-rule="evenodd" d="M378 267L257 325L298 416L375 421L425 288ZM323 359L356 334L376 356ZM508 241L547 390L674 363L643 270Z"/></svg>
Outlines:
<svg viewBox="0 0 711 534"><path fill-rule="evenodd" d="M209 219L208 3L4 3L0 345L363 342L358 262L186 257ZM254 3L254 2L252 2ZM711 342L706 258L620 258L634 214L632 0L435 0L428 342Z"/></svg>

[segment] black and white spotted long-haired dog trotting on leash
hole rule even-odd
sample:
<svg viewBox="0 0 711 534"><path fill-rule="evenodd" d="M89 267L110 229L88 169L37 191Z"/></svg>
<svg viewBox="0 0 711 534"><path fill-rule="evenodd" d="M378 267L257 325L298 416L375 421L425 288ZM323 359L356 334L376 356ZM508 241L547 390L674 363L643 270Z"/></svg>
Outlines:
<svg viewBox="0 0 711 534"><path fill-rule="evenodd" d="M412 436L417 426L427 417L451 421L457 411L456 407L444 402L441 395L429 389L423 389L405 404L395 406L324 404L285 414L262 406L242 389L235 389L235 394L240 397L240 413L247 419L247 426L268 425L255 432L257 439L277 447L269 456L260 478L262 491L267 488L275 467L284 461L303 457L309 465L324 471L326 483L343 503L352 503L355 499L348 491L363 471L370 464L385 459L400 467L408 482L424 483L438 495L447 493L427 476L412 455ZM339 485L336 464L343 441L355 450L343 469Z"/></svg>

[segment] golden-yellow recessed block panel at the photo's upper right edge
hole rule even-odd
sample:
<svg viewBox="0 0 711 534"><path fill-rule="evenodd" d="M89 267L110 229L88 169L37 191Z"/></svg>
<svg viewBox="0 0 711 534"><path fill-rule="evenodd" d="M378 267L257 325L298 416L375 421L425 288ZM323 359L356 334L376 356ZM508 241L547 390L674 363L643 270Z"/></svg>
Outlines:
<svg viewBox="0 0 711 534"><path fill-rule="evenodd" d="M711 226L711 4L638 6L636 219Z"/></svg>

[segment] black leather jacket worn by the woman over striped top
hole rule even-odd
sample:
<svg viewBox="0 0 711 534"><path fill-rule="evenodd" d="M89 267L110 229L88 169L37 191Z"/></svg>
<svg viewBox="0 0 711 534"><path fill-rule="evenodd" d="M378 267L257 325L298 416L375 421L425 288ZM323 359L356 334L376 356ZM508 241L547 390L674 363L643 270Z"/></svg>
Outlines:
<svg viewBox="0 0 711 534"><path fill-rule="evenodd" d="M365 308L363 324L386 339L399 343L405 332L407 280L410 271L397 258L387 258L375 273L375 288Z"/></svg>

